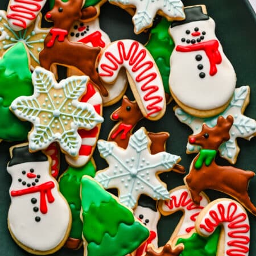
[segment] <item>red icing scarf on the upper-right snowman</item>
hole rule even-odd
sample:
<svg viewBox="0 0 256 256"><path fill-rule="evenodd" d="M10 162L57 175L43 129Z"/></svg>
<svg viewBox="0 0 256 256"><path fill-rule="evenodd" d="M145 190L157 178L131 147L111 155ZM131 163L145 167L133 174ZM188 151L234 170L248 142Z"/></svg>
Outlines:
<svg viewBox="0 0 256 256"><path fill-rule="evenodd" d="M193 51L205 51L210 61L210 76L214 76L217 73L216 64L221 64L222 58L218 51L219 43L217 40L209 40L197 44L191 44L190 46L177 46L177 52L193 52Z"/></svg>

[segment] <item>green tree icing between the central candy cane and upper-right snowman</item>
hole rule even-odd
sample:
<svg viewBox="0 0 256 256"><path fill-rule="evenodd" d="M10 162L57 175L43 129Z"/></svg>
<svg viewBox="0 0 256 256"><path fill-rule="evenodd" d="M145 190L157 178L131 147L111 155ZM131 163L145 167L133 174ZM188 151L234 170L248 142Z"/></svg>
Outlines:
<svg viewBox="0 0 256 256"><path fill-rule="evenodd" d="M174 50L174 42L168 33L170 24L171 22L162 18L158 25L151 30L150 40L146 44L146 48L153 56L156 65L158 65L164 90L169 94L170 57Z"/></svg>

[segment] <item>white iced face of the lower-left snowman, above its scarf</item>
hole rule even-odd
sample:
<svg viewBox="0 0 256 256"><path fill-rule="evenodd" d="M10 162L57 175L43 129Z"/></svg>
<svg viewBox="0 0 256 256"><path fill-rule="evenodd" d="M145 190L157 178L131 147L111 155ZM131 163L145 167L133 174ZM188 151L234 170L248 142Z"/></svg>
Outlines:
<svg viewBox="0 0 256 256"><path fill-rule="evenodd" d="M11 187L16 190L34 187L46 182L49 175L49 162L27 162L7 167L13 178Z"/></svg>

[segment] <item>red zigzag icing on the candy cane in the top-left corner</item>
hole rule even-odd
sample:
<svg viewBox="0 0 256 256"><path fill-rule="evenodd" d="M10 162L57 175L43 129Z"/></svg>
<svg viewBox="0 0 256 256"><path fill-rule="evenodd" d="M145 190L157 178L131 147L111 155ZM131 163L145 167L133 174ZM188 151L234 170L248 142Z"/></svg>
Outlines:
<svg viewBox="0 0 256 256"><path fill-rule="evenodd" d="M10 5L10 9L15 13L7 15L8 19L14 19L13 22L15 26L22 28L27 27L26 19L33 20L36 18L35 12L38 12L42 9L42 5L36 2L42 2L43 0L14 0L16 3L21 3L20 5ZM23 3L23 5L22 5ZM30 5L28 7L26 5Z"/></svg>

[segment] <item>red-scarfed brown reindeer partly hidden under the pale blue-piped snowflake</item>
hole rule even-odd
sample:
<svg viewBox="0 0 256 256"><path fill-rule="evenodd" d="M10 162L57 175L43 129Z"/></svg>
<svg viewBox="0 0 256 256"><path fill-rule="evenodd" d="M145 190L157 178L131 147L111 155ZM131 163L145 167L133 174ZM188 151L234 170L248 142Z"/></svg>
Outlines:
<svg viewBox="0 0 256 256"><path fill-rule="evenodd" d="M129 98L123 96L121 107L115 110L111 119L119 121L110 131L108 141L114 141L119 147L127 148L129 139L133 135L133 128L143 118L143 114L139 109L136 101L130 101ZM150 151L151 154L157 154L166 150L166 141L169 138L169 134L166 132L161 133L147 133L151 140ZM180 164L176 164L173 171L181 174L185 173L185 168Z"/></svg>

